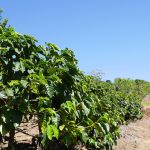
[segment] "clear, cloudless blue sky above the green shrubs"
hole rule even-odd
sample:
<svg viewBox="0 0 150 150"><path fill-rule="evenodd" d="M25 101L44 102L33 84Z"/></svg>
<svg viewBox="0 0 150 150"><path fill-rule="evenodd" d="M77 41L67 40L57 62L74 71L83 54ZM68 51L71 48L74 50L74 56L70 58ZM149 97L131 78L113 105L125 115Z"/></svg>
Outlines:
<svg viewBox="0 0 150 150"><path fill-rule="evenodd" d="M150 0L0 0L17 32L75 52L103 79L150 81Z"/></svg>

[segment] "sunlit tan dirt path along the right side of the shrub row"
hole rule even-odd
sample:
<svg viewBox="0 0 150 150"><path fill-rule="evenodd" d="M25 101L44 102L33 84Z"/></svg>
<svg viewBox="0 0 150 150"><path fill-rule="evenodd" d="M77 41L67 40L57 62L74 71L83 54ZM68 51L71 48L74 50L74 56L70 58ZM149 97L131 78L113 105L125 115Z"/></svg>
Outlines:
<svg viewBox="0 0 150 150"><path fill-rule="evenodd" d="M150 106L144 107L144 117L141 120L122 126L121 133L114 150L150 150Z"/></svg>

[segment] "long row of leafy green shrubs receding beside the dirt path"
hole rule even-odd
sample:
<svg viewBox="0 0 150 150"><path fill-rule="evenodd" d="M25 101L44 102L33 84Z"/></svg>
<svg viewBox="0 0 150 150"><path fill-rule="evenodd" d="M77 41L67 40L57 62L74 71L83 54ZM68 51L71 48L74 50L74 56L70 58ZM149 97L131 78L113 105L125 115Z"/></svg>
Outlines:
<svg viewBox="0 0 150 150"><path fill-rule="evenodd" d="M3 136L12 136L23 118L36 114L45 148L49 141L68 149L81 141L93 149L110 149L119 137L119 126L142 117L141 98L149 93L148 82L111 83L84 75L70 49L38 45L35 38L17 33L6 22L0 24Z"/></svg>

